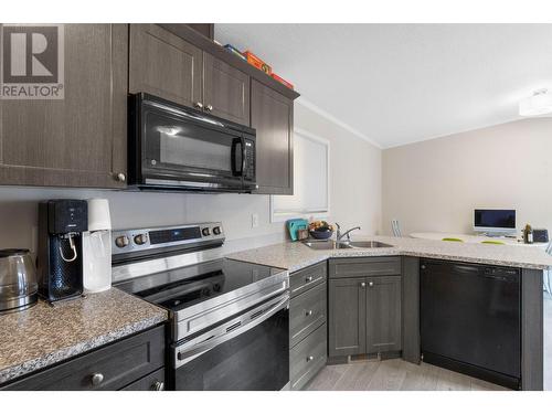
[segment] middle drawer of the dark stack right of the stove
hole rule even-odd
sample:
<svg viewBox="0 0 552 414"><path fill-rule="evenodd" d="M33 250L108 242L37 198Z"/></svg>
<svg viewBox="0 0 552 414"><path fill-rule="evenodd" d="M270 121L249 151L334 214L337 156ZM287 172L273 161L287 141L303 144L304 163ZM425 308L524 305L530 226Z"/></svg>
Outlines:
<svg viewBox="0 0 552 414"><path fill-rule="evenodd" d="M326 283L296 296L289 305L289 347L326 322Z"/></svg>

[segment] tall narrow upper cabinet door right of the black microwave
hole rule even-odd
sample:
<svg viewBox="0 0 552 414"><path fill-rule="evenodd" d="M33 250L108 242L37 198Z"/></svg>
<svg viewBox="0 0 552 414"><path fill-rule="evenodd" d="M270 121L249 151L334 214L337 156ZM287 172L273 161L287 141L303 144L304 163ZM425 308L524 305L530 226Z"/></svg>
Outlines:
<svg viewBox="0 0 552 414"><path fill-rule="evenodd" d="M252 79L251 125L257 130L257 193L294 193L294 103Z"/></svg>

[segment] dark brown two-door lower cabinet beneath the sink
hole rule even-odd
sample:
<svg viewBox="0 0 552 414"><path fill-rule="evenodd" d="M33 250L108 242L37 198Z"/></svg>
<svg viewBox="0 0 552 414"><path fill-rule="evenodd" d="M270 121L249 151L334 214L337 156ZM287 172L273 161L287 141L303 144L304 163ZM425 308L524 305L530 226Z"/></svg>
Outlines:
<svg viewBox="0 0 552 414"><path fill-rule="evenodd" d="M329 266L329 357L401 351L401 275L343 277L336 264L346 265L347 259L338 261ZM359 259L351 261L358 273ZM367 274L371 265L368 259ZM400 267L392 272L400 273Z"/></svg>

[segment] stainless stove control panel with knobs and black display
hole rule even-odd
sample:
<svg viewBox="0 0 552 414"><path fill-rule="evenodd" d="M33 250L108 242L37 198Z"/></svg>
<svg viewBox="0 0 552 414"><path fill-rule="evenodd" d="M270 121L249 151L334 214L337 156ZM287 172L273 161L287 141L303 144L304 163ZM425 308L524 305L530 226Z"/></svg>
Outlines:
<svg viewBox="0 0 552 414"><path fill-rule="evenodd" d="M222 223L182 224L169 227L117 230L113 232L113 255L147 253L149 250L187 250L222 245Z"/></svg>

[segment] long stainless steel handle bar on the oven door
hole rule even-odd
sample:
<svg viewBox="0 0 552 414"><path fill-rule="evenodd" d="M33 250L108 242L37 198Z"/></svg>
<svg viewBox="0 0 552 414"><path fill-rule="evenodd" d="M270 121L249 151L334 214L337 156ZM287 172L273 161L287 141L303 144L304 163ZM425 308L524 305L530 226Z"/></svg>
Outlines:
<svg viewBox="0 0 552 414"><path fill-rule="evenodd" d="M266 304L264 304L264 305L266 305ZM210 351L211 349L220 346L221 343L226 342L226 341L231 340L232 338L235 338L235 337L248 331L250 329L255 328L256 326L263 323L265 320L267 320L268 318L274 316L279 310L286 308L288 305L289 305L289 295L284 295L284 297L280 300L278 300L275 305L273 305L270 308L264 310L261 315L251 319L251 321L248 321L245 325L240 326L236 329L233 329L231 331L227 331L226 333L220 335L219 337L211 337L203 342L191 346L190 348L188 348L185 344L183 344L180 348L177 348L174 350L176 354L177 354L177 367L181 365L183 363L181 361L183 361L183 360L188 360L190 358L198 357L199 354L206 352L206 351ZM254 316L256 312L258 312L263 308L264 308L264 306L259 306L259 307L255 308L254 310L251 310L248 312L248 315ZM232 322L229 322L230 327L232 327L232 325L233 325Z"/></svg>

